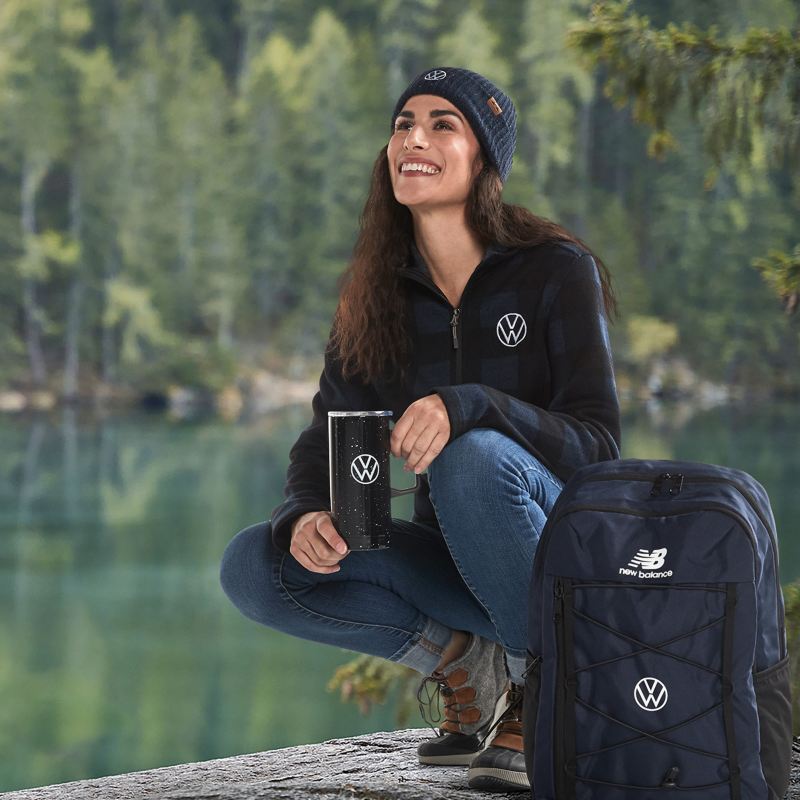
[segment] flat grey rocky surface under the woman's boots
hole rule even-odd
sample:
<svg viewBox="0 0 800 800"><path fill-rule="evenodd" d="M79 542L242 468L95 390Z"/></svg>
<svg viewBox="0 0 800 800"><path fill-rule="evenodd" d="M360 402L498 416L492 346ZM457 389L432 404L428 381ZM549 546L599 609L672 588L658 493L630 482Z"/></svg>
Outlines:
<svg viewBox="0 0 800 800"><path fill-rule="evenodd" d="M3 800L520 800L467 787L466 767L423 767L425 729L374 733L322 744L180 764L40 789ZM788 798L800 800L800 759Z"/></svg>

